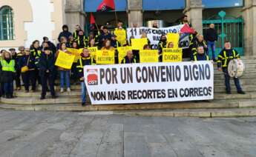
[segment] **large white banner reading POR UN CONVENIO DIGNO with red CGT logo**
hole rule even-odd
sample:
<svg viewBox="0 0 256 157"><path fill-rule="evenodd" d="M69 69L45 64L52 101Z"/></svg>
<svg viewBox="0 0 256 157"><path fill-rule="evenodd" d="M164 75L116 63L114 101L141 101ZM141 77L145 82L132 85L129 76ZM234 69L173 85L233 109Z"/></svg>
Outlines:
<svg viewBox="0 0 256 157"><path fill-rule="evenodd" d="M211 61L85 66L92 104L195 101L214 98Z"/></svg>

